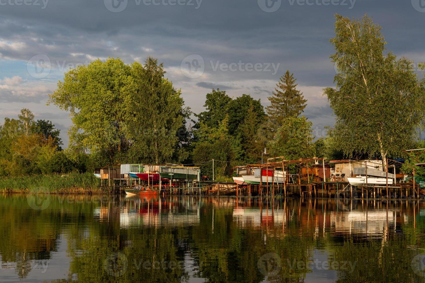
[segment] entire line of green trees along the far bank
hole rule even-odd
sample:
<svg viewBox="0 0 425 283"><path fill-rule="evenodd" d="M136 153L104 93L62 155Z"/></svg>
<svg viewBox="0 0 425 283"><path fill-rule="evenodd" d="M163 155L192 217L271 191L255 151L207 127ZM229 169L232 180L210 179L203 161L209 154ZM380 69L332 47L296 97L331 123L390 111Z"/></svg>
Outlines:
<svg viewBox="0 0 425 283"><path fill-rule="evenodd" d="M202 175L211 178L214 160L215 179L226 179L236 165L259 163L264 148L267 157L286 160L379 154L385 163L387 156L400 157L418 142L425 79L411 61L386 53L380 30L367 16L350 20L336 15L331 39L336 87L324 89L336 123L326 138L314 142L312 123L300 116L307 100L289 70L268 98L266 113L260 99L247 94L232 98L212 89L205 110L194 114L194 126L187 129L193 113L184 106L181 90L166 78L162 63L151 57L144 64L109 58L69 70L50 95L50 103L71 113L65 151L54 124L34 121L29 109L22 109L17 119L5 119L0 176L85 172L119 163L185 163L200 166ZM406 161L414 162L410 157ZM410 172L408 168L402 171Z"/></svg>

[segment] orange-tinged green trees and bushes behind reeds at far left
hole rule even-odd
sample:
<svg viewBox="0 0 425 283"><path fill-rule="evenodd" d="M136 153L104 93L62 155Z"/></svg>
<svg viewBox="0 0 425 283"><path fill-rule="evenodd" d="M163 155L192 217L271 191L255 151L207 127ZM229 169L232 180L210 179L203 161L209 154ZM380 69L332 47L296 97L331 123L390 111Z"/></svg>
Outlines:
<svg viewBox="0 0 425 283"><path fill-rule="evenodd" d="M51 121L34 121L28 109L18 119L6 118L0 126L0 176L68 173L84 170L62 151L60 131Z"/></svg>

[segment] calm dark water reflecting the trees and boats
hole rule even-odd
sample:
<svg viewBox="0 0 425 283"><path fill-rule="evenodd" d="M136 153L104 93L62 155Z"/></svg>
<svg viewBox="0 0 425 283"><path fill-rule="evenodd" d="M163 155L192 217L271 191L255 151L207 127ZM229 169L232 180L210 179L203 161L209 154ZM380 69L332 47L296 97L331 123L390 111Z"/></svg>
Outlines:
<svg viewBox="0 0 425 283"><path fill-rule="evenodd" d="M0 282L424 282L425 203L0 195Z"/></svg>

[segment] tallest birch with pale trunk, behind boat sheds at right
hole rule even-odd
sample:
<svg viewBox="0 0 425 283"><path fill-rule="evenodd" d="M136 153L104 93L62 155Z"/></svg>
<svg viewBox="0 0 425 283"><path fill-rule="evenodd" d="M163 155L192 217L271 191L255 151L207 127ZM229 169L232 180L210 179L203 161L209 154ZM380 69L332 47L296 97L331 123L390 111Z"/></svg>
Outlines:
<svg viewBox="0 0 425 283"><path fill-rule="evenodd" d="M378 153L385 163L389 154L399 155L418 137L425 110L424 79L415 73L413 62L386 53L381 27L367 15L335 17L330 41L336 88L324 89L336 115L329 134L344 154Z"/></svg>

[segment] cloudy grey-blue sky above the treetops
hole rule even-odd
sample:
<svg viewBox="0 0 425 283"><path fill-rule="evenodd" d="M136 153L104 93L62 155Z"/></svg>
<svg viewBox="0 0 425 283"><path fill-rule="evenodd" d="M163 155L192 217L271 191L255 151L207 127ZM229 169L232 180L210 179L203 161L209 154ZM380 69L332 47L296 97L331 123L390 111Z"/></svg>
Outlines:
<svg viewBox="0 0 425 283"><path fill-rule="evenodd" d="M66 147L71 119L47 105L63 74L98 58L153 56L195 113L212 88L267 106L289 70L323 137L334 123L323 88L334 86L336 13L368 14L388 50L425 62L425 0L0 0L0 123L28 108L61 130Z"/></svg>

